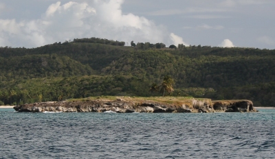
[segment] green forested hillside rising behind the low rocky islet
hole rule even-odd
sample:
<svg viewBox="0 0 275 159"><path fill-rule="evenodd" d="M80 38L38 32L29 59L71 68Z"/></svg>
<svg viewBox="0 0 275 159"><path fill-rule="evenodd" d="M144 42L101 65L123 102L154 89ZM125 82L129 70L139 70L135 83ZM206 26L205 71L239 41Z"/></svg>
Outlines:
<svg viewBox="0 0 275 159"><path fill-rule="evenodd" d="M175 96L275 106L275 50L133 44L91 38L34 49L0 47L0 104L151 96L150 86L170 75Z"/></svg>

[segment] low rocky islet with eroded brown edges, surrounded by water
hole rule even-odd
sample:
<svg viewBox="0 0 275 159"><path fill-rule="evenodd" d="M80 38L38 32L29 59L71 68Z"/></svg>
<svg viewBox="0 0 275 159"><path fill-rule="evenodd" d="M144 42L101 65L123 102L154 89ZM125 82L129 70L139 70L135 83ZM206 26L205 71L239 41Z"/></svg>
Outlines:
<svg viewBox="0 0 275 159"><path fill-rule="evenodd" d="M41 102L14 106L18 112L257 112L252 101L211 99L186 99L175 103L158 101L86 100Z"/></svg>

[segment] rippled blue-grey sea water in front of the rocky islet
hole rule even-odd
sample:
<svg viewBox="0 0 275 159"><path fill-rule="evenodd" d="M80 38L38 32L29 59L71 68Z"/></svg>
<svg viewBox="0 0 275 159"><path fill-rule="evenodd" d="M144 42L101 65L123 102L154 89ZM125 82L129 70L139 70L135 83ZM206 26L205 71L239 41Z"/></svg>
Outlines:
<svg viewBox="0 0 275 159"><path fill-rule="evenodd" d="M0 158L275 158L275 110L19 113L0 109Z"/></svg>

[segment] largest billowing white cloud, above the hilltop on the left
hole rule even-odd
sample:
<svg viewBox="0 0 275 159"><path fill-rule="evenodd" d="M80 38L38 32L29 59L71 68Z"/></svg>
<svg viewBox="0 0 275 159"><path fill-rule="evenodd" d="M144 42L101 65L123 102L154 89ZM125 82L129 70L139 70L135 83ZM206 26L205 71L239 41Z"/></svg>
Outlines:
<svg viewBox="0 0 275 159"><path fill-rule="evenodd" d="M122 14L123 0L89 3L60 1L50 5L40 19L0 19L0 46L39 47L74 38L108 38L130 42L184 43L166 27L134 14ZM4 40L3 40L4 39Z"/></svg>

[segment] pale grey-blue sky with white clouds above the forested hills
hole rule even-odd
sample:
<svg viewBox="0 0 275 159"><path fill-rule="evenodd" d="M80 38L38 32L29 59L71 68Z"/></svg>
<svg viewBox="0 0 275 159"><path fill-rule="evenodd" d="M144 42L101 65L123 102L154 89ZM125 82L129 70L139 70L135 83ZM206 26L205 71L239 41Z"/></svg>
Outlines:
<svg viewBox="0 0 275 159"><path fill-rule="evenodd" d="M0 47L74 38L275 49L274 0L1 0Z"/></svg>

